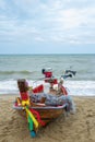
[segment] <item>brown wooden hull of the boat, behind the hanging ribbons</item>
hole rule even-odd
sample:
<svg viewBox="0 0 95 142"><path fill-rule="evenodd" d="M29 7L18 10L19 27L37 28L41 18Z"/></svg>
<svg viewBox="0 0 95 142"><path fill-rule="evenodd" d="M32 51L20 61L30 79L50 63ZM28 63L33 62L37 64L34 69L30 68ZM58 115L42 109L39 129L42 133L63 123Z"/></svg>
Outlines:
<svg viewBox="0 0 95 142"><path fill-rule="evenodd" d="M58 118L60 115L62 115L66 110L67 104L62 106L32 106L29 109L36 110L40 119L47 125L48 122L52 121L54 119ZM25 110L22 106L13 105L13 108L19 111L19 114L23 117L26 116Z"/></svg>

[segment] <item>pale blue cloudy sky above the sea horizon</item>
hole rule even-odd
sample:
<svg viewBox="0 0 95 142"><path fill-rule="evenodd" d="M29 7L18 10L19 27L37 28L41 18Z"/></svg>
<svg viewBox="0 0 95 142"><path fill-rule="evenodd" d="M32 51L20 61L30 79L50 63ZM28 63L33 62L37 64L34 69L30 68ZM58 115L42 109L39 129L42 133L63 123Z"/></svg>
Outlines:
<svg viewBox="0 0 95 142"><path fill-rule="evenodd" d="M3 54L95 54L95 0L0 0Z"/></svg>

